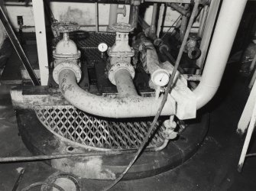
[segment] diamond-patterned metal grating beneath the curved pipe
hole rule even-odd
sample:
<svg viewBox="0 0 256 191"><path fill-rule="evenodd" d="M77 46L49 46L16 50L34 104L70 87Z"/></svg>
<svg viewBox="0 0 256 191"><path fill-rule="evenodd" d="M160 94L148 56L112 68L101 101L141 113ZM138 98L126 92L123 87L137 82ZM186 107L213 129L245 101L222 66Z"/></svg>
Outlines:
<svg viewBox="0 0 256 191"><path fill-rule="evenodd" d="M100 150L137 149L147 134L151 121L122 121L96 118L72 105L36 106L34 111L41 123L53 134L83 147ZM156 128L160 122L157 123ZM151 138L147 148L164 144L164 125Z"/></svg>

